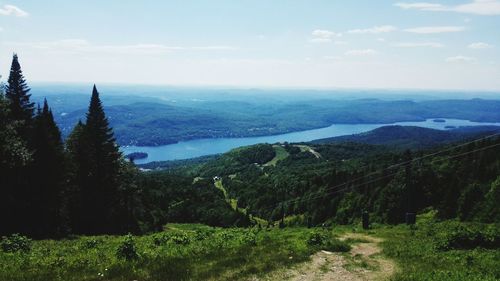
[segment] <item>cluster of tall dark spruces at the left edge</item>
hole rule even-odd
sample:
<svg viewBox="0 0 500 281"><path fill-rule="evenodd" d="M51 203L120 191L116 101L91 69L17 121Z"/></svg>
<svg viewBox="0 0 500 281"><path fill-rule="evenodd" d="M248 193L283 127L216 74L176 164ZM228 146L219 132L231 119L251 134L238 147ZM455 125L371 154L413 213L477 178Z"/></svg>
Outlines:
<svg viewBox="0 0 500 281"><path fill-rule="evenodd" d="M94 85L85 122L64 143L52 110L30 101L14 54L0 93L0 234L33 237L137 231L125 174L134 173L115 143Z"/></svg>

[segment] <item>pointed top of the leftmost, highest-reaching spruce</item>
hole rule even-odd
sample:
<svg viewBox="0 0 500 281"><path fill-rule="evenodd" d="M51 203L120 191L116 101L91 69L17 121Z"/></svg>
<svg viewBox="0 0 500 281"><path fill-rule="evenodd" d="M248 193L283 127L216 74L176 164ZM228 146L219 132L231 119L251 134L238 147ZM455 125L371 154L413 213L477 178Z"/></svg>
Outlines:
<svg viewBox="0 0 500 281"><path fill-rule="evenodd" d="M17 54L12 57L6 97L10 100L10 110L14 120L24 121L29 126L33 119L34 103L30 101L30 88L26 83Z"/></svg>

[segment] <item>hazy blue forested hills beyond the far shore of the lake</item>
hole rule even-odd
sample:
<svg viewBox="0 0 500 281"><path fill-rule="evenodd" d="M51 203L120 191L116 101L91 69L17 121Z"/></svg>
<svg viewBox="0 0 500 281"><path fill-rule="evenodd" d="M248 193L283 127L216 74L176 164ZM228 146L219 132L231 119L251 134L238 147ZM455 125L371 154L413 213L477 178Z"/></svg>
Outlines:
<svg viewBox="0 0 500 281"><path fill-rule="evenodd" d="M279 101L229 97L239 100L173 102L136 96L104 97L104 110L120 145L154 146L200 138L275 135L332 124L389 124L430 118L500 122L500 101L485 99ZM35 100L42 103L43 98ZM48 102L54 106L54 118L63 136L78 120L85 119L87 105L81 95L51 95Z"/></svg>

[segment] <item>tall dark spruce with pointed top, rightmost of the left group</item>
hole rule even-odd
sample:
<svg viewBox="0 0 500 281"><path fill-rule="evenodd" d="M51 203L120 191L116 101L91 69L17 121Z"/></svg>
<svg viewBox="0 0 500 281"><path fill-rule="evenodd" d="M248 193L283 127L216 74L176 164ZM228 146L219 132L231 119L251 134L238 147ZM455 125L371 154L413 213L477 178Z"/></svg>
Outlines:
<svg viewBox="0 0 500 281"><path fill-rule="evenodd" d="M119 232L119 172L121 153L115 143L96 86L92 90L87 120L73 139L73 156L78 156L78 190L81 208L78 232ZM84 153L81 153L84 152ZM79 155L75 155L75 153Z"/></svg>

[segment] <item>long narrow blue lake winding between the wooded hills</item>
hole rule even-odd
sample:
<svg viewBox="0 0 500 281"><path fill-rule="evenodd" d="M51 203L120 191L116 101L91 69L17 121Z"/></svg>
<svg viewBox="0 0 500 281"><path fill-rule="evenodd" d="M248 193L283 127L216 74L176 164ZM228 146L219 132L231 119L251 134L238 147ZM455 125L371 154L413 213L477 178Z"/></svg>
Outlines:
<svg viewBox="0 0 500 281"><path fill-rule="evenodd" d="M436 122L436 121L439 122ZM444 122L443 122L444 121ZM161 146L124 146L121 151L126 155L132 152L146 152L147 158L137 159L135 163L144 164L152 161L167 161L189 159L204 155L224 153L240 146L252 145L257 143L276 143L276 142L306 142L316 139L337 137L343 135L352 135L367 132L382 126L402 125L419 126L425 128L446 130L446 127L460 126L484 126L496 125L500 123L478 123L468 120L433 118L418 122L396 122L391 124L334 124L329 127L293 132L288 134L247 137L247 138L216 138L216 139L197 139L190 141L181 141L169 145Z"/></svg>

